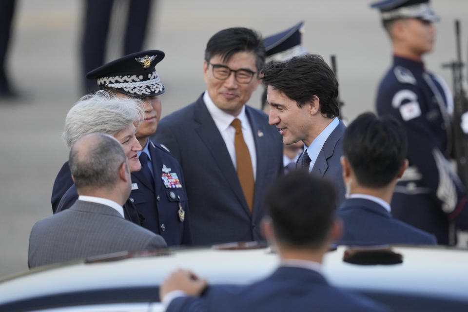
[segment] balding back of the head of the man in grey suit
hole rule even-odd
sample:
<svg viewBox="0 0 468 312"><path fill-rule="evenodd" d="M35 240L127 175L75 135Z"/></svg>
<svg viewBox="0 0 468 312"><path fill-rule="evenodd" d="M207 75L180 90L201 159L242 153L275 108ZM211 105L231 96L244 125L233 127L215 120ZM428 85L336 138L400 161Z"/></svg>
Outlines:
<svg viewBox="0 0 468 312"><path fill-rule="evenodd" d="M68 161L77 190L86 191L115 186L120 166L126 159L121 144L114 137L95 133L76 141Z"/></svg>

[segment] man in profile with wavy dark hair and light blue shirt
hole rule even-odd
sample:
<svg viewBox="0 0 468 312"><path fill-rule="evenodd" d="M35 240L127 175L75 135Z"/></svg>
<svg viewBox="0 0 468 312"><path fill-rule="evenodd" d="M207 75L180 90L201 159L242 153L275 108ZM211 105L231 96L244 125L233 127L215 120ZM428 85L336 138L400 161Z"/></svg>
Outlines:
<svg viewBox="0 0 468 312"><path fill-rule="evenodd" d="M338 81L319 55L294 57L263 70L271 125L285 144L304 143L296 168L331 180L337 205L345 197L340 157L345 125L338 119Z"/></svg>

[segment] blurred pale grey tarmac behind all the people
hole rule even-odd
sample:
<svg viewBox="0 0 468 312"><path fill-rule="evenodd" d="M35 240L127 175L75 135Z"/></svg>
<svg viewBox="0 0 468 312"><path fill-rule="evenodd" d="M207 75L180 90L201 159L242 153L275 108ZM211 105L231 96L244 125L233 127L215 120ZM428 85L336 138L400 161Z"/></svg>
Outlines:
<svg viewBox="0 0 468 312"><path fill-rule="evenodd" d="M20 0L9 53L17 101L0 100L0 277L27 269L28 239L33 224L52 214L54 179L67 160L61 140L65 116L82 95L79 42L83 2ZM118 1L117 1L118 2ZM352 120L373 111L376 86L390 66L390 41L370 0L160 0L145 47L166 58L157 65L167 92L165 115L193 102L205 89L202 65L207 40L233 26L254 28L264 36L305 21L303 45L327 61L337 58L344 117ZM468 1L434 0L442 17L436 24L434 52L427 68L451 87L441 64L455 58L453 21L461 19L464 60L467 61ZM116 21L114 29L118 29ZM118 39L118 34L112 40ZM113 41L113 42L114 42ZM119 56L111 44L108 58ZM465 70L464 74L467 74ZM261 87L249 105L260 106Z"/></svg>

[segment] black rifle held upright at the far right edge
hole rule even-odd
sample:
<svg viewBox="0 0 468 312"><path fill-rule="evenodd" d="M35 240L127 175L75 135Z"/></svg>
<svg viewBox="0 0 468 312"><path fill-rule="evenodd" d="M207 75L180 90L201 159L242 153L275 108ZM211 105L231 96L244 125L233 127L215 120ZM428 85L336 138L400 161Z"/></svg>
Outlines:
<svg viewBox="0 0 468 312"><path fill-rule="evenodd" d="M462 51L460 46L460 21L455 20L455 42L457 59L443 68L452 71L453 83L453 154L457 162L457 173L465 188L468 186L468 98L463 89Z"/></svg>

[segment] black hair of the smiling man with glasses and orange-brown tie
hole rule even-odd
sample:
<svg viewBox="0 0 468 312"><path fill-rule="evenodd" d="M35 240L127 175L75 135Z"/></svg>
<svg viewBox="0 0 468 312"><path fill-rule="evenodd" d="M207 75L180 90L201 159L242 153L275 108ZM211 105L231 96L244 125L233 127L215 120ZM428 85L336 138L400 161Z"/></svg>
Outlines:
<svg viewBox="0 0 468 312"><path fill-rule="evenodd" d="M233 27L218 31L206 44L205 60L210 61L215 55L224 62L238 52L250 52L255 55L255 66L260 71L265 65L265 46L260 34L252 29Z"/></svg>

